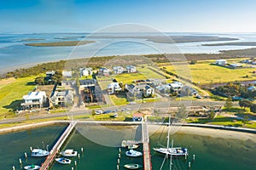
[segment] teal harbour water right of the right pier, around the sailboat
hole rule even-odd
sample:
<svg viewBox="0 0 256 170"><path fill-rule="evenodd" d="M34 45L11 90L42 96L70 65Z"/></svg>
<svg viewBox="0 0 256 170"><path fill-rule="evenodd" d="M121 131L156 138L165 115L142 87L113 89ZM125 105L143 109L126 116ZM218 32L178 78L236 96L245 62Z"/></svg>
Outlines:
<svg viewBox="0 0 256 170"><path fill-rule="evenodd" d="M150 138L151 147L160 147L166 144L166 133L160 135L155 133ZM160 137L161 136L161 137ZM160 137L160 139L159 139ZM255 136L256 138L256 136ZM256 143L251 140L212 138L201 135L175 133L172 135L173 146L183 146L189 149L189 157L173 158L172 169L188 169L189 161L191 169L195 170L254 170L256 167ZM152 150L153 169L160 169L164 156ZM195 161L193 161L195 155ZM165 163L163 169L169 169L170 159Z"/></svg>

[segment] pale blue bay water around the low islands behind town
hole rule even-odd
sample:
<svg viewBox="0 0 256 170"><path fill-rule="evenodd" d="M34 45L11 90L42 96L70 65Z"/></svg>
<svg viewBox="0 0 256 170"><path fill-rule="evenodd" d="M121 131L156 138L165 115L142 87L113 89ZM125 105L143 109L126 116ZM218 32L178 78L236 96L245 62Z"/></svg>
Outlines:
<svg viewBox="0 0 256 170"><path fill-rule="evenodd" d="M256 41L256 34L195 34L166 33L172 36L218 36L238 37L235 42ZM100 38L86 37L88 34L0 34L0 72L11 71L16 67L34 65L36 63L73 59L91 56L121 55L121 54L177 54L177 53L218 53L219 50L252 48L250 46L201 46L204 43L218 42L185 42L157 43L141 38ZM81 37L85 36L85 37ZM112 35L113 36L113 35ZM71 39L56 39L73 37ZM26 38L43 38L42 41L21 41ZM55 42L67 40L95 40L95 43L79 47L30 47L26 42ZM132 50L131 50L132 49Z"/></svg>

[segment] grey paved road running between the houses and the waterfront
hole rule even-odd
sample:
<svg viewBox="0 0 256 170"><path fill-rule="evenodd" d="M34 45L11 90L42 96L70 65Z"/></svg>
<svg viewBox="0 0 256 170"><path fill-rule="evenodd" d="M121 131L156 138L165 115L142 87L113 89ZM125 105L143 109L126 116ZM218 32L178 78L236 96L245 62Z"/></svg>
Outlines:
<svg viewBox="0 0 256 170"><path fill-rule="evenodd" d="M104 107L102 109L97 110L115 110L115 109L131 109L133 111L137 111L139 109L168 109L169 107L177 107L183 103L186 106L215 106L215 105L224 105L224 101L203 101L203 100L194 100L194 101L160 101L160 102L154 102L154 103L143 103L143 104L136 104L136 105L124 105L124 106L109 106ZM233 103L234 106L237 106L237 102ZM47 119L47 118L53 118L53 117L61 117L61 116L69 116L70 119L72 119L72 116L86 116L91 113L91 110L88 109L82 109L81 111L67 111L67 112L61 112L61 113L55 113L55 114L48 114L48 115L32 115L29 116L29 120L37 120L37 119ZM3 119L0 121L0 124L6 124L6 123L12 123L12 122L22 122L26 121L25 116L18 116L11 119Z"/></svg>

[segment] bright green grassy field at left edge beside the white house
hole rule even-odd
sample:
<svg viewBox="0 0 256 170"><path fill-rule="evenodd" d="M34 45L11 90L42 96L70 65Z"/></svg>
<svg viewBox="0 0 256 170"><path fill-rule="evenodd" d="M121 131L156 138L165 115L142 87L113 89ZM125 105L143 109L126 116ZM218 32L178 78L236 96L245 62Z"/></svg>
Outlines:
<svg viewBox="0 0 256 170"><path fill-rule="evenodd" d="M18 78L0 87L0 118L14 116L12 110L20 108L22 96L35 88L33 84L36 77Z"/></svg>

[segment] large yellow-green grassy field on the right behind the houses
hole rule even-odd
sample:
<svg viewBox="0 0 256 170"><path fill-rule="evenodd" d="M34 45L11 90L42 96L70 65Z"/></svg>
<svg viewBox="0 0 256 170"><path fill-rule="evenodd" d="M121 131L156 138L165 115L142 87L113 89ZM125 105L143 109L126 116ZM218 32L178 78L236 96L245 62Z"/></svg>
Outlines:
<svg viewBox="0 0 256 170"><path fill-rule="evenodd" d="M235 61L234 59L228 60L229 63ZM173 65L165 65L160 66L160 68L166 68L166 71L178 73L179 76L185 78L189 78L189 75L191 75L192 81L200 84L255 80L253 75L253 71L256 70L255 68L229 69L218 65L210 65L212 62L214 60L197 61L195 65L185 63L180 63L175 67ZM187 67L186 65L189 67L189 70L184 69L184 67Z"/></svg>

